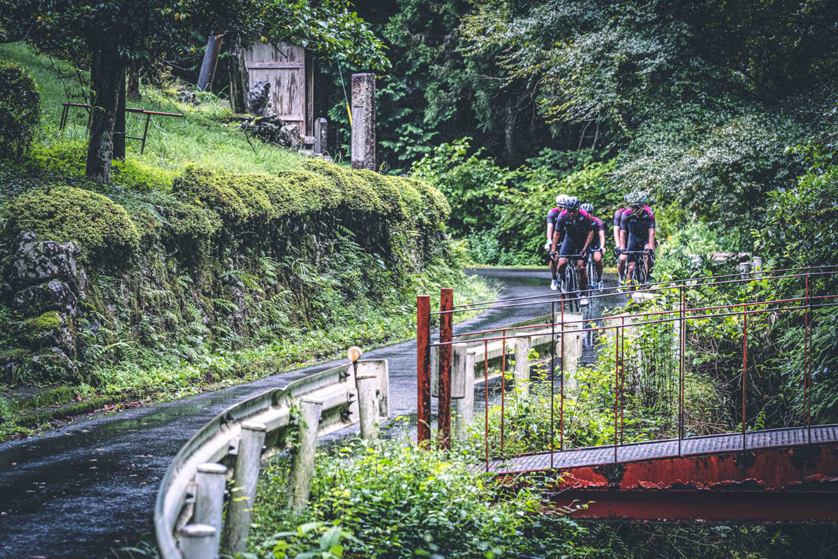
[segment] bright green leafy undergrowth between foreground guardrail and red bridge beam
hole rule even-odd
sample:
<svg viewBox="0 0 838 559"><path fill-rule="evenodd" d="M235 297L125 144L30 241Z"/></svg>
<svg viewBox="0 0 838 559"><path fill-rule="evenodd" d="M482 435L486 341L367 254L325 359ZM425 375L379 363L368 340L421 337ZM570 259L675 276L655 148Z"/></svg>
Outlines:
<svg viewBox="0 0 838 559"><path fill-rule="evenodd" d="M501 494L498 484L480 479L463 458L412 445L354 444L333 455L318 453L302 519L277 507L285 501L285 468L274 464L260 482L258 528L250 539L259 557L321 551L317 538L301 546L305 542L297 534L300 529L318 534L332 525L353 536L344 540L344 556L387 559L517 556L534 550L559 556L576 551L572 538L584 532L549 511L534 520L542 505L529 489ZM299 520L305 522L297 529ZM289 546L294 548L286 555Z"/></svg>

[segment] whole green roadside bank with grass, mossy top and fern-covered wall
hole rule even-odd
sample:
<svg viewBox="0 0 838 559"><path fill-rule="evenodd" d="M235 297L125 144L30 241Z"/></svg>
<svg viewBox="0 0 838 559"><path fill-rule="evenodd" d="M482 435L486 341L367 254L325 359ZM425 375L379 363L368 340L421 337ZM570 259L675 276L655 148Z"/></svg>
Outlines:
<svg viewBox="0 0 838 559"><path fill-rule="evenodd" d="M9 399L33 383L71 386L85 410L181 396L402 339L417 290L439 282L484 292L437 189L248 142L210 94L193 107L144 89L143 106L185 118L154 117L144 155L129 144L112 184L87 181L81 111L57 129L60 101L77 101L70 68L21 45L0 55L42 100L28 156L0 176ZM49 419L23 407L0 409Z"/></svg>

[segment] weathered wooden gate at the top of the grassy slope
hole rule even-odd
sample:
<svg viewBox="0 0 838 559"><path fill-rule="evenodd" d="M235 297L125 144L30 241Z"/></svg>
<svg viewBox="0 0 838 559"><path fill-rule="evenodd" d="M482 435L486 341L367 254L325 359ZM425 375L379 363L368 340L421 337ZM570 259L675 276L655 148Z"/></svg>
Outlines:
<svg viewBox="0 0 838 559"><path fill-rule="evenodd" d="M292 44L256 43L245 53L251 85L271 84L273 110L283 121L294 123L301 136L314 133L314 67L311 52Z"/></svg>

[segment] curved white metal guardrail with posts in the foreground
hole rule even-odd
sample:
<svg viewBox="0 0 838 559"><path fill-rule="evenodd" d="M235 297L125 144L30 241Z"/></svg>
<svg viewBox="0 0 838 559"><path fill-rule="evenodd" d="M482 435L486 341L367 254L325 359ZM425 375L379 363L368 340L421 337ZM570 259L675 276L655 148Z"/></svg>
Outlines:
<svg viewBox="0 0 838 559"><path fill-rule="evenodd" d="M215 557L220 542L230 555L245 551L260 463L287 448L283 434L294 421L292 410L300 409L300 448L292 463L296 485L288 497L292 508L302 508L317 437L357 422L361 437L377 437L378 424L390 416L388 394L387 362L362 360L262 392L220 413L180 449L160 483L154 505L159 556ZM233 482L222 526L227 479Z"/></svg>

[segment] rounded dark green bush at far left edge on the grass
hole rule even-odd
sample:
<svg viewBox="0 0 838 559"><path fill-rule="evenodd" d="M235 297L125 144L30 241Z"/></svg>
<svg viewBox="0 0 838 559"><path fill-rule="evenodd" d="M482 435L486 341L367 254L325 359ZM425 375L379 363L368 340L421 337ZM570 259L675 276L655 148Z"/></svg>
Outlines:
<svg viewBox="0 0 838 559"><path fill-rule="evenodd" d="M19 159L28 151L40 102L34 78L21 66L0 60L0 153Z"/></svg>

